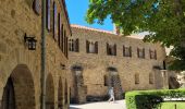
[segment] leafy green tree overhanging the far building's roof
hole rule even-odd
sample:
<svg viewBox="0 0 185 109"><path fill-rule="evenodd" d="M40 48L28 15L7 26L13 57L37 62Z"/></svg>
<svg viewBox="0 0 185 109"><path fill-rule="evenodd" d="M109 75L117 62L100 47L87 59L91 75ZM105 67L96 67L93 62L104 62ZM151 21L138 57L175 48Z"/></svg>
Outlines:
<svg viewBox="0 0 185 109"><path fill-rule="evenodd" d="M174 48L185 43L185 0L89 0L89 24L109 15L123 35L149 32L145 41Z"/></svg>

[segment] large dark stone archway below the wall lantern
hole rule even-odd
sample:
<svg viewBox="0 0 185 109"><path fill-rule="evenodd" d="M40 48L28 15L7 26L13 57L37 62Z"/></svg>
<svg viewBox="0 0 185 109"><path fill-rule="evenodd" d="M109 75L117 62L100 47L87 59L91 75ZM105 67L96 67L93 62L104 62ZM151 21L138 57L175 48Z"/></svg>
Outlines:
<svg viewBox="0 0 185 109"><path fill-rule="evenodd" d="M20 64L11 73L2 96L1 109L35 109L34 80L27 65Z"/></svg>

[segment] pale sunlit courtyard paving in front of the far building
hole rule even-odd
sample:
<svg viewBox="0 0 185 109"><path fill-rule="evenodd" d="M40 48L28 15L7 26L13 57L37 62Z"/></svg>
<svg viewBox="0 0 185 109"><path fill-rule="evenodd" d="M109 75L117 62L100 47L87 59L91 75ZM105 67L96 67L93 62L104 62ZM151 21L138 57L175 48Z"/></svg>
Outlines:
<svg viewBox="0 0 185 109"><path fill-rule="evenodd" d="M85 105L70 105L70 109L126 109L125 100L115 100L115 102L100 101Z"/></svg>

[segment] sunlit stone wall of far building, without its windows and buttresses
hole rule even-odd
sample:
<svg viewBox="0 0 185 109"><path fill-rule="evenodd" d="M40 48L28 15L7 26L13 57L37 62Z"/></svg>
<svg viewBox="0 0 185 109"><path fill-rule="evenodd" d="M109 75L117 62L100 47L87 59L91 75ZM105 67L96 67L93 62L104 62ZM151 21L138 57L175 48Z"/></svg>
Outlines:
<svg viewBox="0 0 185 109"><path fill-rule="evenodd" d="M108 86L104 86L104 75L108 75L109 66L118 70L123 92L162 88L157 86L162 83L161 73L153 69L153 66L163 69L165 59L164 48L159 44L144 43L140 39L122 37L111 32L76 25L72 25L72 39L79 39L79 52L70 51L69 69L75 65L84 69L83 77L84 85L87 86L87 96L107 95ZM98 41L98 53L86 52L86 40ZM107 55L107 43L116 44L116 56ZM132 47L132 57L123 57L123 45ZM137 57L137 48L145 48L145 59ZM157 51L157 60L150 59L149 49ZM136 73L139 74L139 84L135 84ZM153 75L153 84L149 84L149 73ZM73 83L72 80L71 86ZM72 89L72 97L75 96L74 92Z"/></svg>

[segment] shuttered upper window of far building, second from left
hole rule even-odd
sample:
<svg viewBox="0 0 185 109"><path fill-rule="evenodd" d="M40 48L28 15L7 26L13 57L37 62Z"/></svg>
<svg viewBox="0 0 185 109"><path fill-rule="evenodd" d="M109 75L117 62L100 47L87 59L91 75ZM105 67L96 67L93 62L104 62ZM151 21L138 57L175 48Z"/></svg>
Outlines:
<svg viewBox="0 0 185 109"><path fill-rule="evenodd" d="M98 41L86 40L87 53L98 53Z"/></svg>

